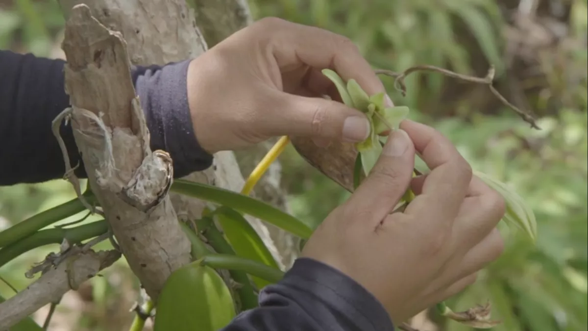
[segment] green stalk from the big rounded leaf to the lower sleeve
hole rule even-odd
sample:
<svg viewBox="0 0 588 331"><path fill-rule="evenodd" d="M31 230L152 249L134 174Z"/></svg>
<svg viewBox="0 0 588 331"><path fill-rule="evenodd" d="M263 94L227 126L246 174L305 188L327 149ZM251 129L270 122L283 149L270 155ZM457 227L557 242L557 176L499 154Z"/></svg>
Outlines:
<svg viewBox="0 0 588 331"><path fill-rule="evenodd" d="M203 263L215 269L242 270L272 283L278 283L284 277L282 270L229 254L210 254L193 263Z"/></svg>

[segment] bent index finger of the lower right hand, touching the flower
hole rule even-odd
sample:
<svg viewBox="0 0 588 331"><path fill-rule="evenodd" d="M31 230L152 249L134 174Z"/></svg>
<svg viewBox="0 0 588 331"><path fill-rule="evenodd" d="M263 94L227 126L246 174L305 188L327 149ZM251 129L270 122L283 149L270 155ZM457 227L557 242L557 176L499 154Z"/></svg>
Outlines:
<svg viewBox="0 0 588 331"><path fill-rule="evenodd" d="M472 167L451 141L424 124L405 120L400 124L415 144L415 150L431 169L423 183L422 194L406 208L405 214L427 213L434 219L452 223L469 191Z"/></svg>

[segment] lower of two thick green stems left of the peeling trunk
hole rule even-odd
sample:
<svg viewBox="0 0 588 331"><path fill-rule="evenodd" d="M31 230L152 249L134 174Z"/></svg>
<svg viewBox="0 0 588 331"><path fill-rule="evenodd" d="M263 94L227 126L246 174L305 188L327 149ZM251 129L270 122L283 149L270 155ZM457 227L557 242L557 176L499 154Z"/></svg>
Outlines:
<svg viewBox="0 0 588 331"><path fill-rule="evenodd" d="M41 230L32 236L17 241L0 249L0 268L16 257L29 250L48 244L61 244L64 239L70 243L80 243L82 240L100 236L108 231L106 220L99 220L83 226L62 229Z"/></svg>

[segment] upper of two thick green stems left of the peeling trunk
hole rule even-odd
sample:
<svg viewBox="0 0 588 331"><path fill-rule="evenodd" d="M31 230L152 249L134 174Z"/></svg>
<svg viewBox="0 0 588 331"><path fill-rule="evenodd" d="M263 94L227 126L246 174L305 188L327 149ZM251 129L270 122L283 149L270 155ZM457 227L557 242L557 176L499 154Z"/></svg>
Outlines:
<svg viewBox="0 0 588 331"><path fill-rule="evenodd" d="M83 196L89 203L95 201L95 197L91 193L85 193ZM76 197L64 204L60 204L59 206L29 217L28 219L0 232L0 248L16 243L16 241L31 236L36 231L41 230L46 226L75 215L85 209L82 201Z"/></svg>

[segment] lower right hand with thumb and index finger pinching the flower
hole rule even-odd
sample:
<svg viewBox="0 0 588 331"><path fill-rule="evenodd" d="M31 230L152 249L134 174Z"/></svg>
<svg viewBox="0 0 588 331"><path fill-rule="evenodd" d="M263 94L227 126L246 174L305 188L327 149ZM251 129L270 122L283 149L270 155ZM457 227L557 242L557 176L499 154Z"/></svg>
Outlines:
<svg viewBox="0 0 588 331"><path fill-rule="evenodd" d="M443 135L412 121L400 128L358 190L302 251L362 284L394 323L472 284L502 253L496 225L505 213L502 196L472 176ZM415 150L431 171L411 178ZM409 186L415 200L392 213Z"/></svg>

